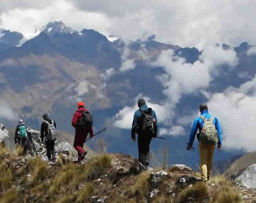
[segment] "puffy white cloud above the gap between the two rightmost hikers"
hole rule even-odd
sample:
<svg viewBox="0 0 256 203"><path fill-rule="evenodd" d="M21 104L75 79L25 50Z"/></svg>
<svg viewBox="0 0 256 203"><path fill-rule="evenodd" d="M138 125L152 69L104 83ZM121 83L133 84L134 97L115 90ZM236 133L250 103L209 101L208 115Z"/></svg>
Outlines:
<svg viewBox="0 0 256 203"><path fill-rule="evenodd" d="M214 76L219 74L220 65L234 67L237 63L238 58L234 50L208 46L193 64L186 63L186 60L176 56L173 50L167 50L162 51L154 65L161 66L166 71L165 75L157 76L157 79L165 87L164 94L175 105L183 94L206 89L214 80Z"/></svg>

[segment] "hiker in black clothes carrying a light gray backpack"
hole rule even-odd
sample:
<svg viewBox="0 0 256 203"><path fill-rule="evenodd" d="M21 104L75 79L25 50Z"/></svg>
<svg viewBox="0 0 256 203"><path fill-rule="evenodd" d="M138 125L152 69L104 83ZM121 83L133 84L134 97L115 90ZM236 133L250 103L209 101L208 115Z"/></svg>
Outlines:
<svg viewBox="0 0 256 203"><path fill-rule="evenodd" d="M50 140L49 139L49 124L52 124L56 129L56 123L53 120L50 120L49 116L47 113L43 114L43 119L44 121L41 124L41 141L46 145L46 150L47 150L47 158L49 161L55 161L55 151L54 151L54 143L55 140ZM49 124L48 124L49 123Z"/></svg>

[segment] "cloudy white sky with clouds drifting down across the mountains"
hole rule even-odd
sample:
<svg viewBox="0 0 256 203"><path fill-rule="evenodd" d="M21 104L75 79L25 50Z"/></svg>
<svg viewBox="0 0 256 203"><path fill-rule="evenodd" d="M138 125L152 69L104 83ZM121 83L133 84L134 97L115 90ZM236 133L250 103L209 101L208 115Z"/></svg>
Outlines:
<svg viewBox="0 0 256 203"><path fill-rule="evenodd" d="M252 151L256 141L255 76L237 69L238 76L248 80L240 87L230 86L223 92L208 92L207 88L221 74L223 65L233 70L239 60L234 50L224 50L215 43L235 47L246 41L256 45L255 7L254 0L9 0L0 2L0 27L19 31L25 38L31 38L48 22L62 20L78 31L95 29L106 35L118 36L125 42L155 34L158 42L203 50L199 60L193 64L175 56L172 50L162 51L151 64L162 67L166 72L157 79L162 82L161 91L167 99L155 104L151 98L146 98L149 105L162 115L159 122L165 127L160 129L160 134L178 136L189 133L185 128L192 124L198 109L193 109L186 116L180 116L175 109L184 96L201 92L207 98L210 111L225 121L225 147ZM255 47L247 54L254 56ZM120 69L109 67L101 73L104 83L119 72L136 68L128 55L129 49L125 49ZM204 77L195 80L198 72ZM87 87L86 81L80 86ZM83 93L78 90L78 94ZM112 118L114 126L130 129L133 112L137 109L136 101L143 96L142 92L133 99L132 106L120 109ZM0 105L6 107L6 103ZM11 109L7 109L6 114L9 115ZM174 120L177 120L175 125ZM244 120L247 122L241 122Z"/></svg>

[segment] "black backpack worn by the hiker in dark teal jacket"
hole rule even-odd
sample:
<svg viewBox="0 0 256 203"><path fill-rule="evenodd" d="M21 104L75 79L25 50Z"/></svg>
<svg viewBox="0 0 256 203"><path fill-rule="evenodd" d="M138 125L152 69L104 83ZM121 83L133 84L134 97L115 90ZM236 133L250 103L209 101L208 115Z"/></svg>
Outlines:
<svg viewBox="0 0 256 203"><path fill-rule="evenodd" d="M152 117L152 109L148 108L146 111L142 111L139 109L142 114L142 125L141 130L150 132L152 135L154 134L154 118Z"/></svg>

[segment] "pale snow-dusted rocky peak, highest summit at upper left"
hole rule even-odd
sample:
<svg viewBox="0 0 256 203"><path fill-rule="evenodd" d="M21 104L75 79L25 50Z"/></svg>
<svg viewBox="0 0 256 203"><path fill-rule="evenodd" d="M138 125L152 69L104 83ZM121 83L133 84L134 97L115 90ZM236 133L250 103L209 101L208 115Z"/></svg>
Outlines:
<svg viewBox="0 0 256 203"><path fill-rule="evenodd" d="M49 22L41 28L41 31L44 31L49 35L54 35L55 33L78 33L78 31L71 27L67 27L62 21Z"/></svg>

